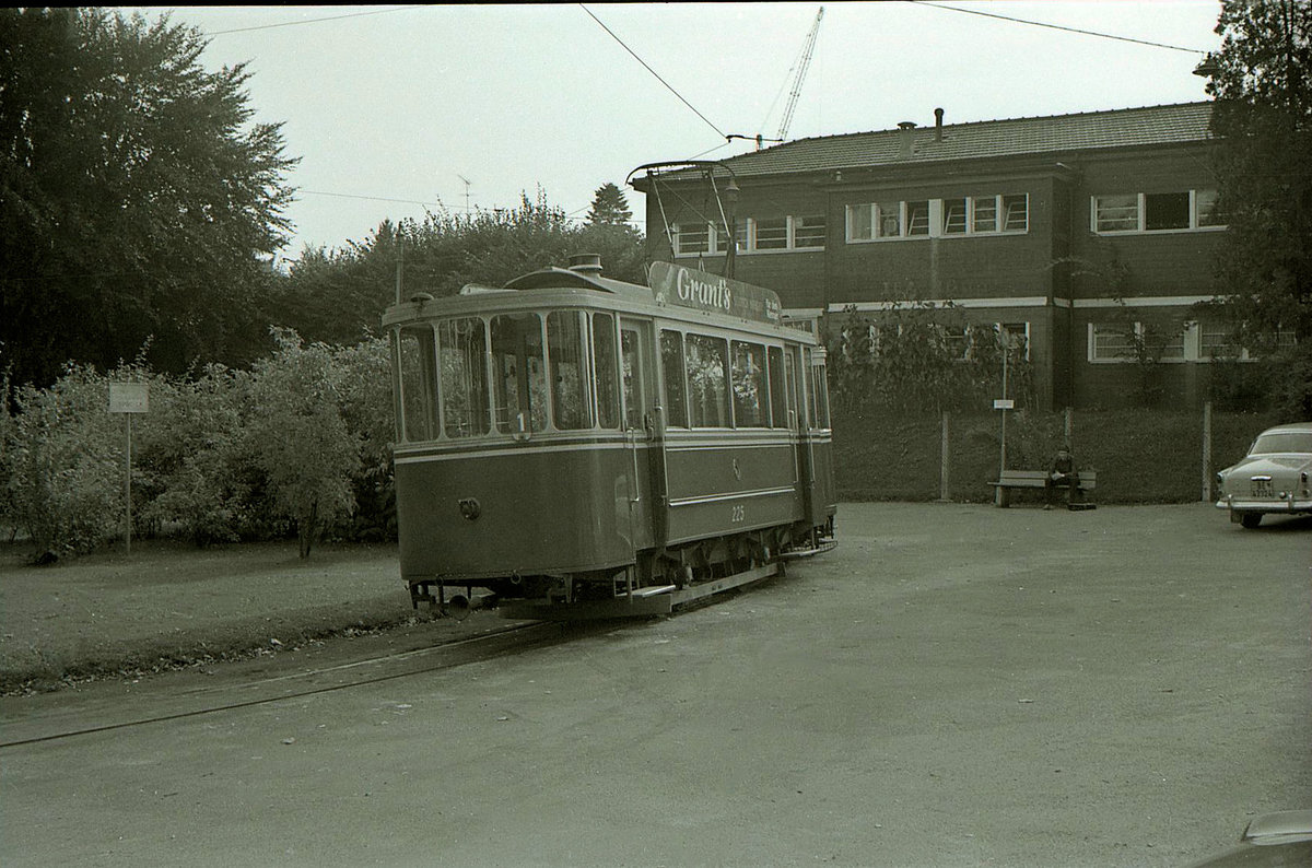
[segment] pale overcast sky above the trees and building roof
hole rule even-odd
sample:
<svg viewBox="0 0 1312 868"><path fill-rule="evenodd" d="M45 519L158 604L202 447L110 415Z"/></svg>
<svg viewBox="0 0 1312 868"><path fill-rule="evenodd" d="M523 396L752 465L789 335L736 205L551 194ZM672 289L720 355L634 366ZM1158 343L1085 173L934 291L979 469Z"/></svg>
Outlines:
<svg viewBox="0 0 1312 868"><path fill-rule="evenodd" d="M646 228L628 174L756 148L728 135L775 138L820 8L134 9L198 28L209 68L248 64L255 119L282 123L300 159L286 261L365 241L383 219L514 207L539 190L581 220L607 182ZM787 139L933 125L939 106L964 123L1204 100L1193 69L1220 45L1219 12L1218 0L829 3Z"/></svg>

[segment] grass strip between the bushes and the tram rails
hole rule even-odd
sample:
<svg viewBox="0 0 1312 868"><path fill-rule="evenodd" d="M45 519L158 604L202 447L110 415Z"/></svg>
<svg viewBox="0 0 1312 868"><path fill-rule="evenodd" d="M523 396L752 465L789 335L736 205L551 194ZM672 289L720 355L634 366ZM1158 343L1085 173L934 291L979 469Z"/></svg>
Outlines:
<svg viewBox="0 0 1312 868"><path fill-rule="evenodd" d="M136 542L50 566L0 544L0 692L247 657L415 619L395 544Z"/></svg>

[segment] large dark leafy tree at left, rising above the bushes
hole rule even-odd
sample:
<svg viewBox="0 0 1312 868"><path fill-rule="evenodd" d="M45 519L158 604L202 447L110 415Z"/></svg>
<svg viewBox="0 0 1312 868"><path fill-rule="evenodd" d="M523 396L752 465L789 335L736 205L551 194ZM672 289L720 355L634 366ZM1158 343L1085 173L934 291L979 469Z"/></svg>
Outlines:
<svg viewBox="0 0 1312 868"><path fill-rule="evenodd" d="M156 368L266 345L264 261L286 241L279 125L244 64L167 17L0 10L0 344L16 383L101 370L147 337Z"/></svg>

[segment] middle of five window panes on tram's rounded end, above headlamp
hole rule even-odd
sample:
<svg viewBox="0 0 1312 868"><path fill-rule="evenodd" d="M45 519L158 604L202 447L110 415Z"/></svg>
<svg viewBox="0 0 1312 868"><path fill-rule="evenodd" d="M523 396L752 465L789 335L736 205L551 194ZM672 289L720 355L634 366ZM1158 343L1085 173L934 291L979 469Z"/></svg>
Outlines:
<svg viewBox="0 0 1312 868"><path fill-rule="evenodd" d="M541 316L502 313L492 317L492 376L499 431L541 431L547 426Z"/></svg>

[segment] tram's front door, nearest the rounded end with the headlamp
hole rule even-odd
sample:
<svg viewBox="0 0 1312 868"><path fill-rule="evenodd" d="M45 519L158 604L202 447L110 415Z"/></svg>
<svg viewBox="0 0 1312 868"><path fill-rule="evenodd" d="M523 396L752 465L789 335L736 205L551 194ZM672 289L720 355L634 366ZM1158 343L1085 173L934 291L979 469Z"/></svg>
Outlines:
<svg viewBox="0 0 1312 868"><path fill-rule="evenodd" d="M635 548L652 545L652 465L659 460L656 380L652 366L652 324L619 320L619 358L623 378L625 447L628 454L628 503Z"/></svg>

